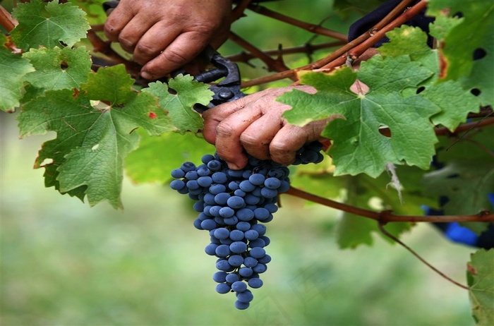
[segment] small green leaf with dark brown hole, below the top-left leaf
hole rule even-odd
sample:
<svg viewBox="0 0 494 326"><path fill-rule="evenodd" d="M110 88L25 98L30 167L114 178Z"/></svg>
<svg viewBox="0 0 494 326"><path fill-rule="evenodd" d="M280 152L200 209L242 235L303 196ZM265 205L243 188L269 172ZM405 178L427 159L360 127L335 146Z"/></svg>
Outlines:
<svg viewBox="0 0 494 326"><path fill-rule="evenodd" d="M85 47L30 49L23 56L36 68L25 80L45 90L78 88L88 80L91 71L92 62Z"/></svg>

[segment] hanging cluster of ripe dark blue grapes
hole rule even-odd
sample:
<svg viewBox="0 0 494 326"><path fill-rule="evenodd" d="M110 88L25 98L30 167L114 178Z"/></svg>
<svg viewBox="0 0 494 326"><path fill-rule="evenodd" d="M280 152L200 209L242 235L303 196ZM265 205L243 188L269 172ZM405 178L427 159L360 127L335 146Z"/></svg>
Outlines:
<svg viewBox="0 0 494 326"><path fill-rule="evenodd" d="M297 152L294 164L321 162L322 148L319 142L307 144ZM218 272L212 277L218 283L216 291L235 292L235 307L246 309L253 300L248 287L263 286L259 274L271 261L264 249L270 239L263 223L278 210L277 195L290 187L289 169L254 157L241 170L229 169L216 154L204 155L201 161L197 166L184 162L171 171L170 186L195 200L193 208L199 214L194 227L209 231L211 243L205 252L218 258Z"/></svg>

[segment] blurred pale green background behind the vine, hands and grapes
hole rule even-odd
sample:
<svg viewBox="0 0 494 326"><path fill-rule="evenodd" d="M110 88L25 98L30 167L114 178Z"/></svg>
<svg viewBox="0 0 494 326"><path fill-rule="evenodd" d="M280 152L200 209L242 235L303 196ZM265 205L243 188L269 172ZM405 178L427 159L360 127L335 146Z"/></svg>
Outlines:
<svg viewBox="0 0 494 326"><path fill-rule="evenodd" d="M331 4L285 0L267 6L319 23L332 16ZM357 17L333 16L324 26L340 32ZM252 12L234 30L261 49L311 38ZM220 52L239 48L227 43ZM306 63L303 55L289 59L290 66ZM242 65L243 76L266 73L263 64L253 64ZM42 169L32 164L53 135L19 140L15 115L0 114L1 325L474 324L466 291L379 236L372 248L339 250L338 212L287 195L267 226L273 260L265 285L253 291L248 310L236 310L233 294L215 292L215 258L203 251L209 236L193 228L188 198L167 185L126 180L125 210L119 212L46 189ZM449 243L427 224L404 241L464 282L471 248Z"/></svg>

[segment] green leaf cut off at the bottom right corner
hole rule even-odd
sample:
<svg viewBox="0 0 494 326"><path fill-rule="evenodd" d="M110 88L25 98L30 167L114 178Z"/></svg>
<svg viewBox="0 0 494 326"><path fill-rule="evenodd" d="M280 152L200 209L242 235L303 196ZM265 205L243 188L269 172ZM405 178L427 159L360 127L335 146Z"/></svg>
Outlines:
<svg viewBox="0 0 494 326"><path fill-rule="evenodd" d="M494 249L477 250L471 255L466 279L477 325L494 325Z"/></svg>

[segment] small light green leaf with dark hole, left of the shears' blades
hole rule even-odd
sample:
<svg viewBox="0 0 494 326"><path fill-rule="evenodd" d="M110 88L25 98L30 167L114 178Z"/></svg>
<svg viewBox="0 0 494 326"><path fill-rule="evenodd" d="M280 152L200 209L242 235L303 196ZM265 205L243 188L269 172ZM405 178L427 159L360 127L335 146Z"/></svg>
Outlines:
<svg viewBox="0 0 494 326"><path fill-rule="evenodd" d="M196 103L209 104L213 93L208 87L193 80L190 75L179 75L169 80L168 85L159 81L150 83L149 88L145 88L143 92L150 92L159 98L159 105L169 112L179 133L195 133L203 128L203 118L194 111L193 106Z"/></svg>

